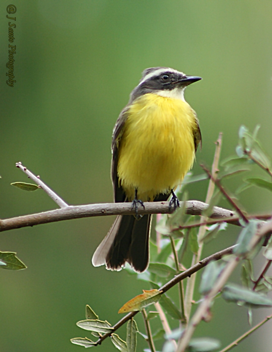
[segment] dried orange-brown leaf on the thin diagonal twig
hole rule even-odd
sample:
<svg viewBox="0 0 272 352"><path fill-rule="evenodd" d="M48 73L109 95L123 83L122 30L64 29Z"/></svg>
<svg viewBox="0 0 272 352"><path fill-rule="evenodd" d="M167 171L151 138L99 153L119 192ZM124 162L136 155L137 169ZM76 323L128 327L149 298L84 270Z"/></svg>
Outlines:
<svg viewBox="0 0 272 352"><path fill-rule="evenodd" d="M118 313L127 313L143 309L144 307L158 302L161 298L161 291L159 290L142 290L143 293L129 300L119 309Z"/></svg>

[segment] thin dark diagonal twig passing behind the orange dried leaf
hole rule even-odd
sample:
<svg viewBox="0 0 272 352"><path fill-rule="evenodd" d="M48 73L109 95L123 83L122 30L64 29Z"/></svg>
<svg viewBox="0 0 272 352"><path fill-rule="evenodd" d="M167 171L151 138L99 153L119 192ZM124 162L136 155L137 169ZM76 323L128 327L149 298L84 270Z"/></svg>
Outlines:
<svg viewBox="0 0 272 352"><path fill-rule="evenodd" d="M174 279L170 280L167 284L162 286L159 291L162 291L163 293L166 293L168 290L170 290L173 286L175 286L178 282L181 280L184 280L185 278L191 276L193 273L197 272L198 270L202 269L204 266L206 266L211 260L219 260L221 259L224 255L228 255L232 253L232 250L234 246L228 247L226 249L221 250L220 252L214 253L210 255L209 257L201 260L199 263L195 264L193 267L189 268L188 270L184 271L183 273L179 274L176 276ZM121 320L118 321L113 327L111 332L106 333L105 335L101 336L97 341L96 345L100 345L102 341L104 341L107 337L109 337L111 334L113 334L116 330L118 330L122 325L124 325L127 321L129 321L131 318L133 318L138 311L131 312L124 316Z"/></svg>

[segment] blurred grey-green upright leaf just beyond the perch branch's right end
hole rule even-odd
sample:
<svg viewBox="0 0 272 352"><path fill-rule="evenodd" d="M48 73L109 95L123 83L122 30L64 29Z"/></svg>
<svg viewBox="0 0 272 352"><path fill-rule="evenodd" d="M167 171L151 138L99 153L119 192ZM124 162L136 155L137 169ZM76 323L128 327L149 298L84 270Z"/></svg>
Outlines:
<svg viewBox="0 0 272 352"><path fill-rule="evenodd" d="M257 232L257 226L260 221L249 220L249 223L242 229L237 239L237 246L233 249L236 255L245 255L251 251L251 240Z"/></svg>

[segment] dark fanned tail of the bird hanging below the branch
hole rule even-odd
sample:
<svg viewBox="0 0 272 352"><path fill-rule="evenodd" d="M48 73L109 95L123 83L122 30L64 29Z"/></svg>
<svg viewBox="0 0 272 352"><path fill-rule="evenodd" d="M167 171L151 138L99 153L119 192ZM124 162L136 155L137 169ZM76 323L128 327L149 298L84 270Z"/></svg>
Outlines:
<svg viewBox="0 0 272 352"><path fill-rule="evenodd" d="M137 220L133 215L118 216L92 257L92 264L106 264L107 269L121 270L126 262L144 271L149 262L151 215Z"/></svg>

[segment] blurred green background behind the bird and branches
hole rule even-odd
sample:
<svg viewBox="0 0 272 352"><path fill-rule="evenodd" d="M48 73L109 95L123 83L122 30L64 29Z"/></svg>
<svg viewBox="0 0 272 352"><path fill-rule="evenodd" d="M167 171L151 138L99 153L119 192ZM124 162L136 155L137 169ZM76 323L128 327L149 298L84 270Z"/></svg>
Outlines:
<svg viewBox="0 0 272 352"><path fill-rule="evenodd" d="M13 88L5 83L8 4L0 6L1 218L56 208L42 190L10 186L27 182L15 168L18 161L69 204L112 201L112 128L141 71L150 66L203 77L186 90L203 136L197 164L211 165L220 131L223 158L234 154L240 124L253 129L260 123L259 137L270 152L271 1L16 0ZM201 172L197 165L193 171ZM236 178L228 182L230 189L236 184ZM191 187L190 199L204 200L206 186ZM262 189L245 191L241 202L251 212L272 209ZM148 289L124 271L92 267L92 253L113 220L80 219L1 233L0 250L16 251L28 266L0 272L1 352L82 351L69 340L90 337L76 326L85 318L85 304L114 324L124 302ZM230 226L203 255L231 245L236 235ZM267 309L255 312L254 322L266 314ZM217 300L214 319L202 323L196 336L219 338L225 346L248 328L246 309ZM267 323L235 351L271 351L270 329ZM125 338L124 329L118 333ZM139 338L138 351L143 348L147 345ZM97 351L117 350L108 339Z"/></svg>

